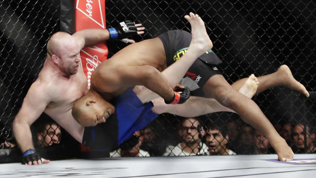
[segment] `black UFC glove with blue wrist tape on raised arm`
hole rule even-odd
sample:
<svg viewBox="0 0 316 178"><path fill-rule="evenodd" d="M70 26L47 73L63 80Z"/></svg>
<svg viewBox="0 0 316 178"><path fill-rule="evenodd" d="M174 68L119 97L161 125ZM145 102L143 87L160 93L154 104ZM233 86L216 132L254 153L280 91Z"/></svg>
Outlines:
<svg viewBox="0 0 316 178"><path fill-rule="evenodd" d="M121 40L129 36L137 35L137 28L135 24L129 20L120 22L120 25L116 28L109 28L110 39Z"/></svg>

